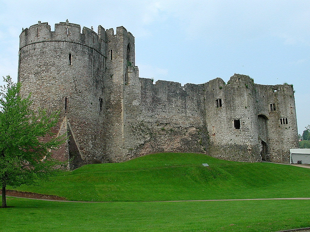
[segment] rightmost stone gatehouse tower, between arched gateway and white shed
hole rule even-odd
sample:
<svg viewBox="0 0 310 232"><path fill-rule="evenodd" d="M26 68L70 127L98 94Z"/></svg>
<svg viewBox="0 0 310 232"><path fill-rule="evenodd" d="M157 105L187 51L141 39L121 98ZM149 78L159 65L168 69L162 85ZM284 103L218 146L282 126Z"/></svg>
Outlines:
<svg viewBox="0 0 310 232"><path fill-rule="evenodd" d="M255 84L255 88L258 114L263 114L268 119L266 120L268 130L266 160L287 163L290 157L289 149L298 148L293 86Z"/></svg>

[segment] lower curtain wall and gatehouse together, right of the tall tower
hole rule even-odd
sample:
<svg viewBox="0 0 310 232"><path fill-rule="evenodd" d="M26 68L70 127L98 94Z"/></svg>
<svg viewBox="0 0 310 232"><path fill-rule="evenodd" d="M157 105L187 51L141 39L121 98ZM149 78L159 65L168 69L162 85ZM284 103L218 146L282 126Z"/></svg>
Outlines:
<svg viewBox="0 0 310 232"><path fill-rule="evenodd" d="M227 84L217 78L181 86L138 78L134 67L128 68L128 73L129 82L124 88L124 159L177 151L208 153L234 161L257 162L263 156L267 161L288 162L288 150L297 144L289 85L277 86L289 92L281 95L282 105L277 102L278 110L270 113L267 102L275 101L274 87L254 84L246 75L235 74ZM279 97L279 91L275 96ZM279 116L277 120L270 116L277 112L290 113L291 125L279 127ZM282 145L275 142L279 139Z"/></svg>

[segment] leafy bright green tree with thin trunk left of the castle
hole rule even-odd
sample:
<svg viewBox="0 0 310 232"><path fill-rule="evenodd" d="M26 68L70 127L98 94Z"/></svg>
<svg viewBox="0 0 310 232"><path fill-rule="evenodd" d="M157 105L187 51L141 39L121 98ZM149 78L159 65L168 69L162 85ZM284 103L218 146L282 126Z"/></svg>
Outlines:
<svg viewBox="0 0 310 232"><path fill-rule="evenodd" d="M51 158L51 150L64 143L64 137L51 133L59 113L35 112L30 95L20 97L21 84L13 83L10 76L3 78L6 84L0 90L0 184L5 208L7 185L30 185L56 174L60 163Z"/></svg>

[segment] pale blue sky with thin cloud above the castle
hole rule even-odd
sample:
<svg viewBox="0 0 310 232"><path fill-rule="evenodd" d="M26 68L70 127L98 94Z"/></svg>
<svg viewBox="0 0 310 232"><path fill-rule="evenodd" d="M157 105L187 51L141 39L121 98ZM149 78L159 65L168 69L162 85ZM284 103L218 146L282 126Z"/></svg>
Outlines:
<svg viewBox="0 0 310 232"><path fill-rule="evenodd" d="M139 77L202 84L234 73L294 85L299 134L310 124L310 2L0 0L0 76L17 81L19 35L38 21L135 37Z"/></svg>

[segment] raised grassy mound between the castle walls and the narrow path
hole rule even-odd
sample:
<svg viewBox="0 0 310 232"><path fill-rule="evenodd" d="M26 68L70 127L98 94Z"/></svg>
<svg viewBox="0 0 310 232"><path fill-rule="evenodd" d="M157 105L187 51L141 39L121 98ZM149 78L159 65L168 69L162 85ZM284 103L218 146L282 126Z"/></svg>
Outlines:
<svg viewBox="0 0 310 232"><path fill-rule="evenodd" d="M203 167L208 163L209 167ZM76 201L161 201L309 197L310 169L159 153L123 163L85 165L20 191Z"/></svg>

